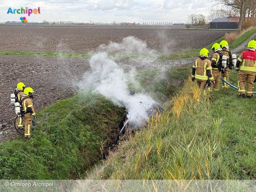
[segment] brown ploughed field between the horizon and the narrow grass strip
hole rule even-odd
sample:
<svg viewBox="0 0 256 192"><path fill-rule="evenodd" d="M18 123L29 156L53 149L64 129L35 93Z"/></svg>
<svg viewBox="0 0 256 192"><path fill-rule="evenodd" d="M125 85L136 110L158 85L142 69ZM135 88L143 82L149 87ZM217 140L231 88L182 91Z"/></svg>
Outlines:
<svg viewBox="0 0 256 192"><path fill-rule="evenodd" d="M88 53L101 44L134 36L157 52L202 48L230 30L183 30L179 26L0 25L0 51ZM205 38L207 37L207 38Z"/></svg>

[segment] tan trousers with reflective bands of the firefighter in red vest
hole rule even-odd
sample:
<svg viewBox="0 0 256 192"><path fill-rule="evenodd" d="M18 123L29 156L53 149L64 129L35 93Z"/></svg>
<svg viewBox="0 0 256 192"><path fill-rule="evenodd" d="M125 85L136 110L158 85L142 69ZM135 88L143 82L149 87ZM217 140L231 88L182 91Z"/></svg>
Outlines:
<svg viewBox="0 0 256 192"><path fill-rule="evenodd" d="M246 96L252 96L253 81L255 79L254 74L246 74L243 70L240 70L237 82L238 82L238 95L245 94L244 83L246 81Z"/></svg>

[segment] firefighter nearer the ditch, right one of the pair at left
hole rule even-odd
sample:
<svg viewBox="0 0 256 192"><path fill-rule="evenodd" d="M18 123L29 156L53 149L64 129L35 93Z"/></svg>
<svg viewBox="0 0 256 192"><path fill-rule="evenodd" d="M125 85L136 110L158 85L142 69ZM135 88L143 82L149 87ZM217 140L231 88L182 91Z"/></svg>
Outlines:
<svg viewBox="0 0 256 192"><path fill-rule="evenodd" d="M36 113L33 107L33 102L31 98L33 98L33 89L30 87L27 87L24 89L24 94L21 98L21 106L23 111L26 111L23 115L23 119L25 121L25 138L30 138L30 129L32 126L32 116L35 119Z"/></svg>

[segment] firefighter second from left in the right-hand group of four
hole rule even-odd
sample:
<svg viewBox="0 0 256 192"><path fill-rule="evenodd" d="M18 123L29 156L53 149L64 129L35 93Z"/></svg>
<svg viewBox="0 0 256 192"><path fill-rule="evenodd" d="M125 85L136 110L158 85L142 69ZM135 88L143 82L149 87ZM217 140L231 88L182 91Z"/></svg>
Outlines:
<svg viewBox="0 0 256 192"><path fill-rule="evenodd" d="M219 91L220 88L220 76L221 76L221 63L220 63L220 57L222 55L221 53L221 48L220 48L220 44L218 43L214 43L212 46L212 51L213 51L213 55L212 55L212 59L211 59L211 66L212 66L212 75L215 81L215 84L211 85L210 87L210 91L212 91L212 89Z"/></svg>

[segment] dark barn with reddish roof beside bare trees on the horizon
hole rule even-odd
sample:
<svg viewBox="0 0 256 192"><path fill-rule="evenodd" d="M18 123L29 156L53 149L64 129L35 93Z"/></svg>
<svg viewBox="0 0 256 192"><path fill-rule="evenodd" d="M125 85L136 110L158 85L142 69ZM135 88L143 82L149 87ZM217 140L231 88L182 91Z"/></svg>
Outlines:
<svg viewBox="0 0 256 192"><path fill-rule="evenodd" d="M247 17L245 21L247 21ZM237 29L239 17L216 18L210 22L210 29Z"/></svg>

